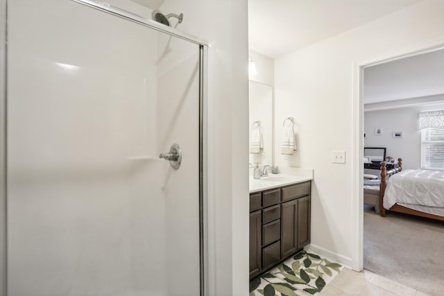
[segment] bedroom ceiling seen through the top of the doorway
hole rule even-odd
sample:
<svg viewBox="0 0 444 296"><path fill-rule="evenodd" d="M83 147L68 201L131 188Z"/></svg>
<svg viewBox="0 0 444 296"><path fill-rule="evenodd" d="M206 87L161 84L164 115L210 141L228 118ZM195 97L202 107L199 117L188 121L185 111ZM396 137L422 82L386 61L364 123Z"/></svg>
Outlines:
<svg viewBox="0 0 444 296"><path fill-rule="evenodd" d="M364 103L444 94L443 82L444 49L377 64L364 69Z"/></svg>

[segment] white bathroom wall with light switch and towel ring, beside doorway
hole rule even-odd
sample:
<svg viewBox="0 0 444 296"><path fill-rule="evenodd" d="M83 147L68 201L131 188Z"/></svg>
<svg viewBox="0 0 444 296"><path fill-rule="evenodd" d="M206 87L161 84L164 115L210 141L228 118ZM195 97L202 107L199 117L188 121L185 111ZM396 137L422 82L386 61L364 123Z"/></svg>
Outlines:
<svg viewBox="0 0 444 296"><path fill-rule="evenodd" d="M311 248L359 268L350 182L354 139L354 64L376 62L444 41L444 1L428 0L275 60L275 126L294 116L298 153L289 164L314 168ZM279 139L275 145L278 147ZM345 150L346 164L332 164ZM287 164L275 152L276 165Z"/></svg>

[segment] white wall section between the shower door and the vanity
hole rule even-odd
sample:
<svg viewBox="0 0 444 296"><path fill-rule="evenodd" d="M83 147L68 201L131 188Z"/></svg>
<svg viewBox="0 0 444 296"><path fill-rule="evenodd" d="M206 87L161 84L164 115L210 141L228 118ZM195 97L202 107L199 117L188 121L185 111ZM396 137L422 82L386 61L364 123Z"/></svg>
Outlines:
<svg viewBox="0 0 444 296"><path fill-rule="evenodd" d="M210 295L248 295L248 24L246 0L166 0L180 31L211 42Z"/></svg>

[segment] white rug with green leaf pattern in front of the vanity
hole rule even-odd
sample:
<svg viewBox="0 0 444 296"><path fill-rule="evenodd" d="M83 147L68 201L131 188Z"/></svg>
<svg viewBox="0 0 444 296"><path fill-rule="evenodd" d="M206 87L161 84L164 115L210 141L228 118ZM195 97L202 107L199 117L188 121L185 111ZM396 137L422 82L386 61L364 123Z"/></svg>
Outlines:
<svg viewBox="0 0 444 296"><path fill-rule="evenodd" d="M250 296L317 295L342 269L341 264L302 251L250 281Z"/></svg>

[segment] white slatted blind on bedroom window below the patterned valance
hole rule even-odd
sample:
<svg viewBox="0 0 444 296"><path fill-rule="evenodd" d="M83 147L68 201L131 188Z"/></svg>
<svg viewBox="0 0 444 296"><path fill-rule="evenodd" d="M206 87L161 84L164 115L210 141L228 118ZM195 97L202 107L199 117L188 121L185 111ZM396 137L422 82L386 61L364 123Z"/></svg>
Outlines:
<svg viewBox="0 0 444 296"><path fill-rule="evenodd" d="M444 128L421 130L421 168L444 170Z"/></svg>

